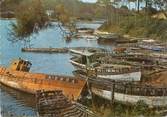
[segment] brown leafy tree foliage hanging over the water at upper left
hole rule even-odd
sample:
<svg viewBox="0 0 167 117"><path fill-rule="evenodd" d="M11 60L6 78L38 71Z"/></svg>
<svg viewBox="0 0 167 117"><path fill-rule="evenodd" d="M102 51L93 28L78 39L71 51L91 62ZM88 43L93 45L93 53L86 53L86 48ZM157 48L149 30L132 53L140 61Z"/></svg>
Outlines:
<svg viewBox="0 0 167 117"><path fill-rule="evenodd" d="M48 16L40 0L27 1L19 5L15 11L16 23L12 24L9 40L12 42L29 41L30 35L48 26Z"/></svg>

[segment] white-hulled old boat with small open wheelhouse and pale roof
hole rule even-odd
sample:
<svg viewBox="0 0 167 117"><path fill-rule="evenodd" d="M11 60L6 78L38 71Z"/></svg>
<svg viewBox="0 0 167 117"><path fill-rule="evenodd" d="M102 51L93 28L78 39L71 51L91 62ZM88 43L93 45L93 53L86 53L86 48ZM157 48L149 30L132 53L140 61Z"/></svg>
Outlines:
<svg viewBox="0 0 167 117"><path fill-rule="evenodd" d="M71 58L70 62L78 70L95 75L99 78L113 80L140 81L140 69L128 65L106 64L98 61L94 53L88 51L76 51L78 56ZM80 55L80 56L79 56Z"/></svg>

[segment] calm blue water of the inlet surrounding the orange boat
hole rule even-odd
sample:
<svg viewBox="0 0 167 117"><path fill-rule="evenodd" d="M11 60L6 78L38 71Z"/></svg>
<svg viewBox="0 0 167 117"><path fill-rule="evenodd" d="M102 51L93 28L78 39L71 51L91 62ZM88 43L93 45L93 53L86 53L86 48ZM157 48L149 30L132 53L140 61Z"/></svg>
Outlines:
<svg viewBox="0 0 167 117"><path fill-rule="evenodd" d="M9 29L14 20L0 20L0 64L8 66L12 59L18 57L32 62L31 72L40 72L47 74L66 74L72 75L74 67L69 63L69 54L37 54L22 53L20 50L23 43L12 44L7 40L9 38ZM79 23L80 27L97 28L100 24ZM100 46L96 41L87 41L86 39L74 39L66 43L61 35L59 28L51 28L41 31L32 36L31 44L33 47L104 47L110 49L110 46ZM35 98L5 86L0 87L1 109L15 113L17 115L26 114L33 116L35 111Z"/></svg>

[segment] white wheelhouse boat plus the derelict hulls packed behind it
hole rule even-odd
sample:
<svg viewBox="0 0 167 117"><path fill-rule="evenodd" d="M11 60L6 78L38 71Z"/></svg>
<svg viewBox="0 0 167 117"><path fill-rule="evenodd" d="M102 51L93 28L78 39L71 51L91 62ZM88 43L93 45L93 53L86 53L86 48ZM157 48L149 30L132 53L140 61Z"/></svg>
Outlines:
<svg viewBox="0 0 167 117"><path fill-rule="evenodd" d="M138 44L138 47L136 46ZM167 53L163 50L142 48L141 42L132 46L116 46L113 51L70 50L74 55L70 62L85 73L100 78L140 81L144 77L167 69ZM146 43L144 43L146 45ZM153 47L153 44L151 44ZM157 47L157 46L156 46ZM142 77L143 76L143 77Z"/></svg>

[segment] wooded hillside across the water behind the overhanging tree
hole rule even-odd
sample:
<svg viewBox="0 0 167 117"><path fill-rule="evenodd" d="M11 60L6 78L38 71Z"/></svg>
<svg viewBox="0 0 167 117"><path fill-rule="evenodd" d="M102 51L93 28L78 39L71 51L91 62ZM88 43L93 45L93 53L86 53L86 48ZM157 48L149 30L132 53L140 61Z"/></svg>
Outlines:
<svg viewBox="0 0 167 117"><path fill-rule="evenodd" d="M5 0L0 4L1 17L14 17L14 12L21 3L32 0ZM79 0L39 0L45 10L55 11L57 7L63 6L70 16L81 20L104 19L105 7L98 4L84 3ZM70 11L70 12L69 12ZM53 18L55 18L53 16Z"/></svg>

